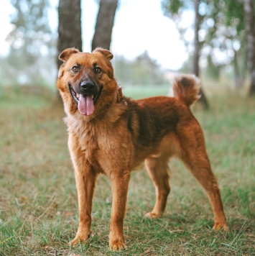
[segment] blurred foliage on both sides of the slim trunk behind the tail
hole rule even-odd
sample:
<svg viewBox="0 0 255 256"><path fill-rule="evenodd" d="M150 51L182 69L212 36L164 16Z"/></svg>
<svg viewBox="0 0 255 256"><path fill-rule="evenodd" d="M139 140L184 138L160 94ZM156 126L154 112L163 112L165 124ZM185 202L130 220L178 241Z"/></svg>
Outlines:
<svg viewBox="0 0 255 256"><path fill-rule="evenodd" d="M239 70L234 72L242 74L241 80L244 80L247 68L243 4L243 0L200 0L199 6L199 40L203 46L201 57L208 59L208 68L214 65L218 69L233 63L237 58L238 66L235 68ZM189 9L193 9L193 1L162 1L164 15L173 18L187 49L192 52L192 42L185 37L190 27L181 26L183 12Z"/></svg>

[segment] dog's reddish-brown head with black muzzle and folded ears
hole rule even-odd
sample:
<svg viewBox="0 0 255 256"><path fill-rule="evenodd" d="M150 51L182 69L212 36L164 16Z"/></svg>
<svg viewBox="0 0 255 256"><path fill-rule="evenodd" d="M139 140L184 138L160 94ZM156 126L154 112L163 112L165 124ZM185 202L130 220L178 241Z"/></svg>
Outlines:
<svg viewBox="0 0 255 256"><path fill-rule="evenodd" d="M96 48L92 53L68 48L60 53L57 88L70 114L91 116L116 100L117 83L113 77L108 50Z"/></svg>

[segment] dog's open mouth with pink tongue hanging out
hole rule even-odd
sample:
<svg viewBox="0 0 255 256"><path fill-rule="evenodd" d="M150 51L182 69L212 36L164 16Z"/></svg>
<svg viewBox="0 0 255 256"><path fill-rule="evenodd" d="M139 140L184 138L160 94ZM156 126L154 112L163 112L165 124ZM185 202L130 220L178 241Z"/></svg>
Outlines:
<svg viewBox="0 0 255 256"><path fill-rule="evenodd" d="M83 94L76 93L73 90L72 86L69 85L69 91L78 106L80 114L83 114L85 116L90 116L91 114L93 114L93 112L95 111L96 101L101 94L101 89L98 91L98 93L93 91L91 93Z"/></svg>

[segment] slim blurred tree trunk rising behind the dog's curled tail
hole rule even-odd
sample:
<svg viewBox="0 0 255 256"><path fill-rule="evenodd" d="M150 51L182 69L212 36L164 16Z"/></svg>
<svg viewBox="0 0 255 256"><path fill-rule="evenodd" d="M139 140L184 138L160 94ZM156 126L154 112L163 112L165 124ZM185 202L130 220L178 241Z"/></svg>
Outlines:
<svg viewBox="0 0 255 256"><path fill-rule="evenodd" d="M201 22L201 17L198 12L199 9L199 4L200 0L195 0L195 40L194 40L194 56L193 56L193 73L195 76L200 76L200 68L199 68L199 59L200 59L200 42L199 42L199 37L198 37L198 32L200 29L200 22ZM205 109L209 108L208 100L205 97L205 93L203 93L202 88L200 88L200 99L198 102L203 104Z"/></svg>

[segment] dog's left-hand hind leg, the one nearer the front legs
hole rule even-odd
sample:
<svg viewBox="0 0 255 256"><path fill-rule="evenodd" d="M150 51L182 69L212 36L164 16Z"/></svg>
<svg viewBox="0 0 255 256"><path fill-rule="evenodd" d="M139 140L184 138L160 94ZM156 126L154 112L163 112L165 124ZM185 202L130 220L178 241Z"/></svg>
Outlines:
<svg viewBox="0 0 255 256"><path fill-rule="evenodd" d="M170 169L168 166L168 156L148 157L145 166L149 177L152 179L156 191L156 203L152 212L146 214L150 219L162 216L167 204L167 196L170 193Z"/></svg>

